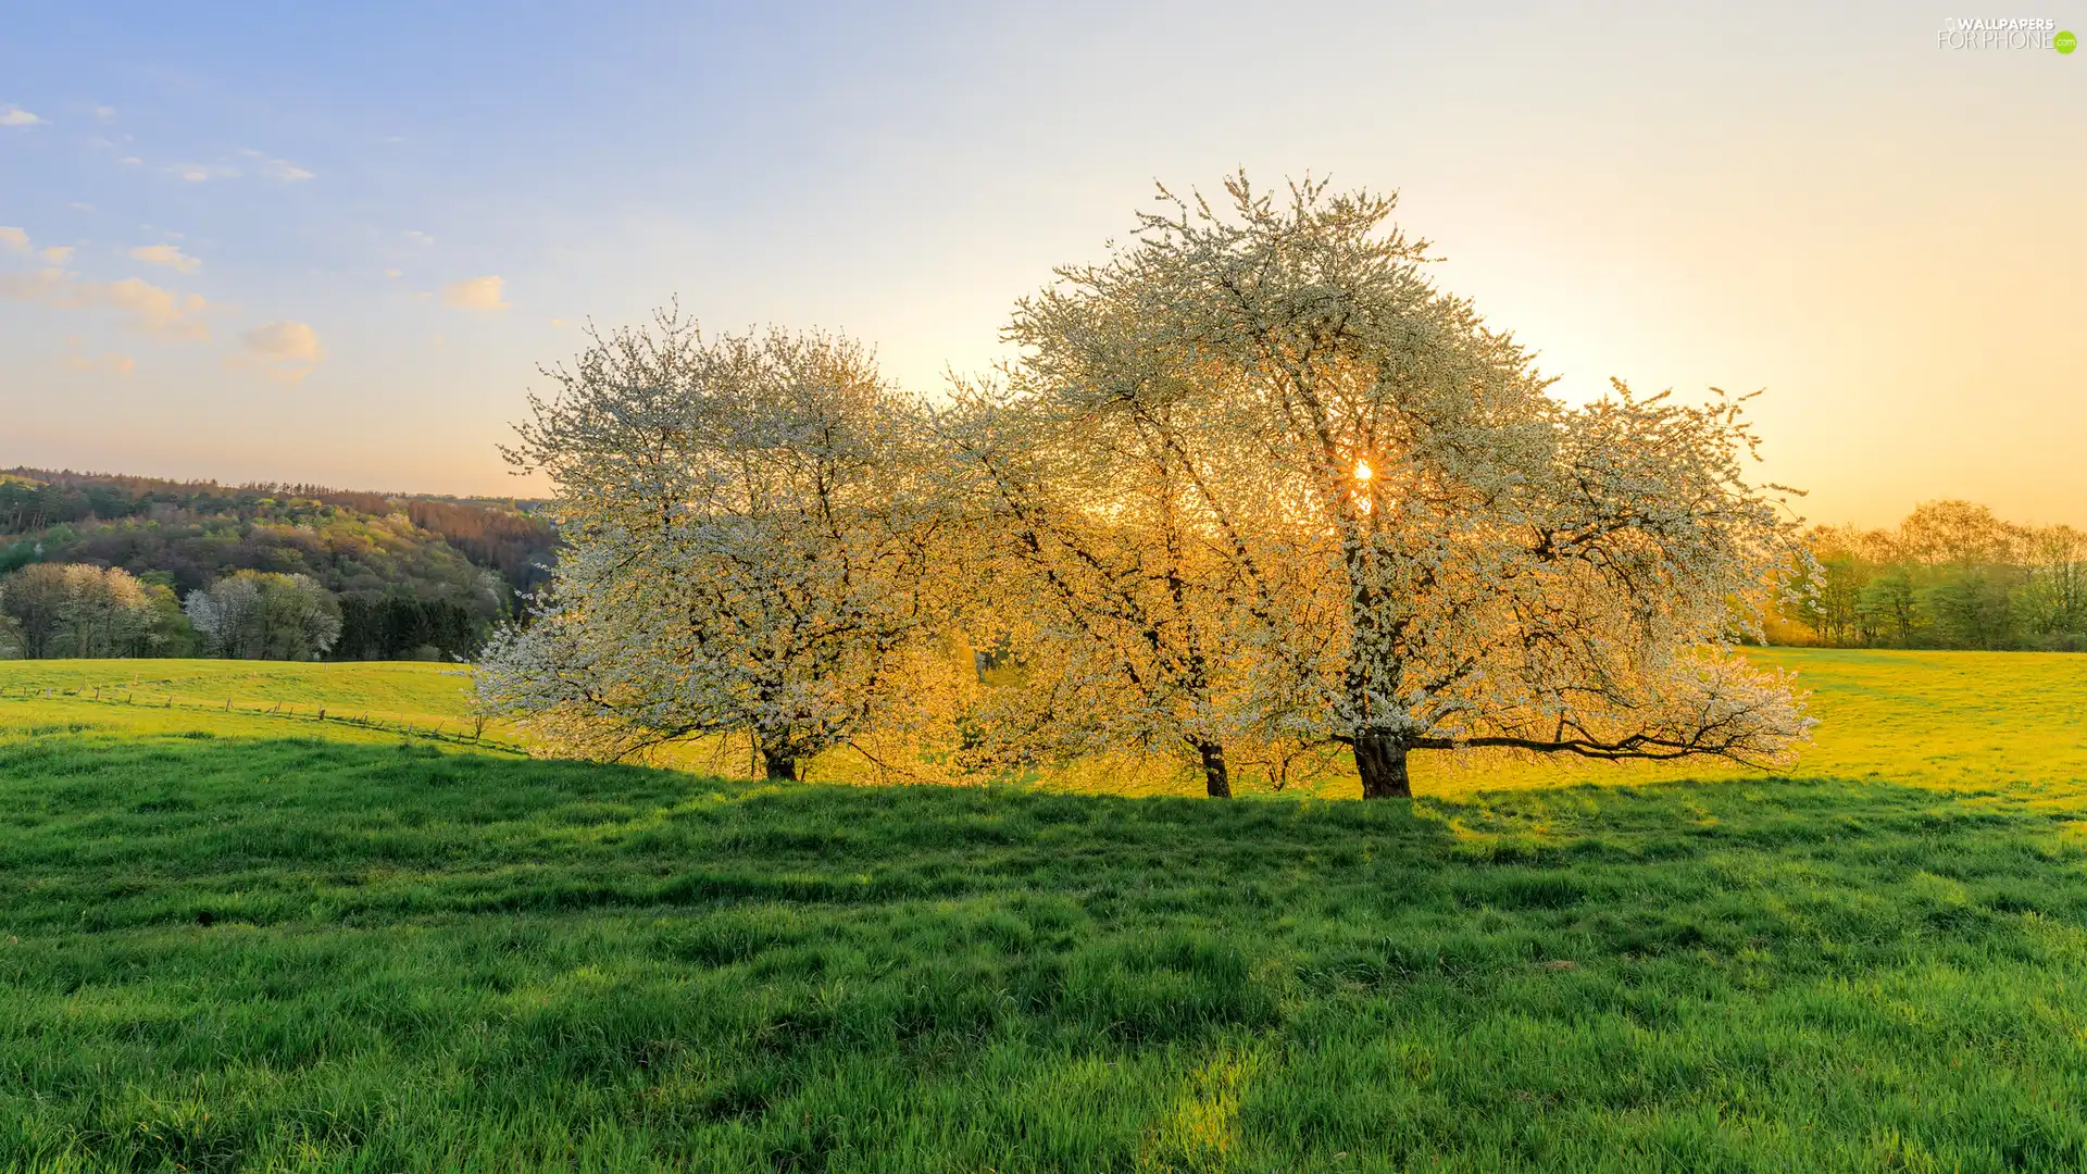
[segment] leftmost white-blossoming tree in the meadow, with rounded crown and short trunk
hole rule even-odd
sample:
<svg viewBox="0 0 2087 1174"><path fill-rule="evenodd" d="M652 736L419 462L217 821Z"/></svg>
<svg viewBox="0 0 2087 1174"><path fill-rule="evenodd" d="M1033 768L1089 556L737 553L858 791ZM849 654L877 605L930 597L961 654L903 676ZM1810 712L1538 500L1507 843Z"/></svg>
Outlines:
<svg viewBox="0 0 2087 1174"><path fill-rule="evenodd" d="M563 754L751 739L768 777L933 742L962 679L941 468L914 401L820 334L705 341L672 311L547 372L511 460L557 487L566 551L482 704Z"/></svg>

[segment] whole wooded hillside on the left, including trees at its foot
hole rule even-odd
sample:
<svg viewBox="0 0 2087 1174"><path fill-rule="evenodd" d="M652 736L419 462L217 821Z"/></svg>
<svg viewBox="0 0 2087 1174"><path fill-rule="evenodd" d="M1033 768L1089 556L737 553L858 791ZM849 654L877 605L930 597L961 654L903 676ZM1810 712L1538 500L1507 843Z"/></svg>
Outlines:
<svg viewBox="0 0 2087 1174"><path fill-rule="evenodd" d="M555 558L557 533L530 510L513 499L6 470L0 656L470 656L520 612L518 595ZM81 570L23 579L40 566ZM213 635L219 606L238 618ZM129 620L77 639L58 612ZM255 616L288 614L303 627L253 627L263 623Z"/></svg>

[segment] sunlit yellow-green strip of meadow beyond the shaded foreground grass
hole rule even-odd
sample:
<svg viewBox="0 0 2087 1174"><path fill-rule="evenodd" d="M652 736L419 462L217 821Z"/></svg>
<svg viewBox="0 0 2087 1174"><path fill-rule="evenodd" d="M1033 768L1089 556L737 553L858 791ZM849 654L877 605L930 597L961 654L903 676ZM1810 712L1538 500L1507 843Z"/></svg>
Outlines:
<svg viewBox="0 0 2087 1174"><path fill-rule="evenodd" d="M1822 719L1814 746L1795 773L1832 779L1889 779L1897 783L1987 790L2049 798L2087 796L2087 656L2062 652L1866 652L1866 650L1751 650L1768 664L1795 668L1799 685L1814 691ZM100 689L100 704L94 691ZM392 731L472 727L470 677L459 664L282 664L253 660L0 660L0 729L15 725L88 723L119 733L211 731L217 735L280 737L284 721L309 721L319 708L330 719L367 714ZM44 691L54 696L44 698ZM173 708L157 708L167 698ZM19 704L27 700L29 704ZM232 719L225 702L232 702ZM17 702L17 704L8 704ZM90 706L92 708L86 708ZM278 712L278 706L282 706ZM355 737L328 723L296 733ZM501 723L490 739L511 739ZM376 737L384 742L386 737ZM745 754L714 758L697 750L693 765L737 767ZM835 758L845 758L837 754ZM854 762L824 762L816 777L845 777ZM1663 779L1745 779L1757 771L1716 765L1611 767L1572 760L1526 762L1505 756L1417 754L1421 792L1469 796L1480 792L1553 788L1574 783L1642 785ZM854 771L864 775L862 771ZM1108 794L1200 796L1202 775L1069 773L1073 790ZM1352 779L1317 790L1319 798L1348 798Z"/></svg>

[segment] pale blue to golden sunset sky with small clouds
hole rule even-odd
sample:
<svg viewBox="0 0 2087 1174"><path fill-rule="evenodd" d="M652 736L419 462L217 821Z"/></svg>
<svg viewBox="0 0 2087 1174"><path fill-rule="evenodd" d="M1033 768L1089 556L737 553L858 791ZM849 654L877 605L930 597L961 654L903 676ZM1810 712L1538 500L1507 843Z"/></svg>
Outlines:
<svg viewBox="0 0 2087 1174"><path fill-rule="evenodd" d="M10 4L0 468L541 493L589 320L935 395L1244 167L1398 192L1569 399L1764 391L1812 520L2087 524L2087 52L1941 36L2087 0L1563 8Z"/></svg>

